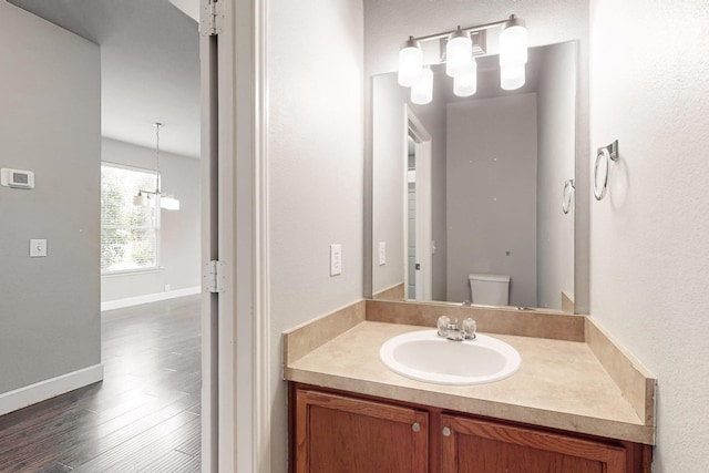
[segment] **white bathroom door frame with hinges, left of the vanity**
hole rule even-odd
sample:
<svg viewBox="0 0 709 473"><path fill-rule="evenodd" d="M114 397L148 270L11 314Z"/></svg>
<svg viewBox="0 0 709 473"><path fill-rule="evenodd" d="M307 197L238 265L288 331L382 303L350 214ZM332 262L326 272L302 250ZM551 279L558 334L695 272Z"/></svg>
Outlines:
<svg viewBox="0 0 709 473"><path fill-rule="evenodd" d="M266 2L218 3L201 34L202 260L223 268L203 291L202 471L269 472Z"/></svg>

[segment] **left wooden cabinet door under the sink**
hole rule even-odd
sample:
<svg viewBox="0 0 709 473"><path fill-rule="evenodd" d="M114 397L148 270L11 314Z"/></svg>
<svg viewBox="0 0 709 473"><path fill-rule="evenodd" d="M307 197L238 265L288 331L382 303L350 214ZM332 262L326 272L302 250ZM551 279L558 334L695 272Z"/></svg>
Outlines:
<svg viewBox="0 0 709 473"><path fill-rule="evenodd" d="M429 414L411 408L296 391L297 473L424 473Z"/></svg>

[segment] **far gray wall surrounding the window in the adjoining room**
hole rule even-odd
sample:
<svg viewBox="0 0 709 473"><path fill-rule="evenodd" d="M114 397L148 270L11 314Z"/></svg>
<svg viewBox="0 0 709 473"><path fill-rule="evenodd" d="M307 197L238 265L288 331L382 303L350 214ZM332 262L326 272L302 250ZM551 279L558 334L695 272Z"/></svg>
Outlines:
<svg viewBox="0 0 709 473"><path fill-rule="evenodd" d="M154 128L146 124L147 133ZM104 162L155 168L155 150L115 140L101 141ZM161 254L157 271L111 275L101 278L101 301L125 299L201 284L199 270L199 161L161 152L162 191L179 199L179 210L162 210Z"/></svg>

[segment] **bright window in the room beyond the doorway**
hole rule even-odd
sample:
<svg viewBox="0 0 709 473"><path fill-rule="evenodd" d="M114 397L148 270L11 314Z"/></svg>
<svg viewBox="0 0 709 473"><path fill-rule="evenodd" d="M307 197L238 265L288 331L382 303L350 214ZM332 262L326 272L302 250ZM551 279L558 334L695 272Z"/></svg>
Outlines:
<svg viewBox="0 0 709 473"><path fill-rule="evenodd" d="M101 165L101 274L157 268L160 207L133 204L155 185L155 172Z"/></svg>

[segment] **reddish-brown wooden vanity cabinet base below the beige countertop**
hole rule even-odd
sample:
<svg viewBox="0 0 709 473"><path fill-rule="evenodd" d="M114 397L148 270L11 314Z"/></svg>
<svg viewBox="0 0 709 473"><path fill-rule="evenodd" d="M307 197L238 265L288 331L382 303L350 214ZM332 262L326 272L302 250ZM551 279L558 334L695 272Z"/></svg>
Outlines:
<svg viewBox="0 0 709 473"><path fill-rule="evenodd" d="M646 473L651 448L290 383L290 472Z"/></svg>

